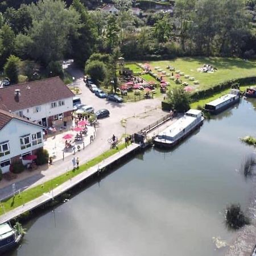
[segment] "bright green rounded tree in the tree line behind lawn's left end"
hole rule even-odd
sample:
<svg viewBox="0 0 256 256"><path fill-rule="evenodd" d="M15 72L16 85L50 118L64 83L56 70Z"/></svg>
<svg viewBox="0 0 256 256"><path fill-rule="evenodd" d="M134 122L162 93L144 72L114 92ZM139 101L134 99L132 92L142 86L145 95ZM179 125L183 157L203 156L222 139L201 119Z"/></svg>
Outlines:
<svg viewBox="0 0 256 256"><path fill-rule="evenodd" d="M167 15L164 15L162 19L155 23L153 34L159 43L165 43L171 36L171 30L170 19Z"/></svg>

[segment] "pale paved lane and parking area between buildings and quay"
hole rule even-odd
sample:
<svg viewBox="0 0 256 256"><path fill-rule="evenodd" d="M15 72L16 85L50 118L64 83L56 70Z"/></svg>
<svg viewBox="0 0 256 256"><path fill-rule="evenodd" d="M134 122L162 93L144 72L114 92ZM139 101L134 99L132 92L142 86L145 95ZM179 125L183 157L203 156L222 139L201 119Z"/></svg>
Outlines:
<svg viewBox="0 0 256 256"><path fill-rule="evenodd" d="M77 69L72 64L65 67L71 76L75 77L75 86L81 89L82 94L79 95L82 103L92 105L95 110L106 108L110 111L110 117L99 120L99 127L96 128L96 138L84 150L76 152L76 157L79 156L80 163L88 162L106 150L109 150L108 138L115 134L121 138L123 134L132 134L157 119L166 115L160 109L162 98L154 98L127 104L118 104L116 102L106 101L98 98L94 93L85 86L82 77L84 74L80 69ZM126 120L126 122L122 122ZM125 124L124 124L125 123ZM27 189L44 183L45 181L59 176L64 172L72 169L73 155L68 155L64 160L56 160L52 166L44 166L38 170L23 172L18 179L13 181L2 180L0 182L0 199L11 195L12 184L15 183L16 189Z"/></svg>

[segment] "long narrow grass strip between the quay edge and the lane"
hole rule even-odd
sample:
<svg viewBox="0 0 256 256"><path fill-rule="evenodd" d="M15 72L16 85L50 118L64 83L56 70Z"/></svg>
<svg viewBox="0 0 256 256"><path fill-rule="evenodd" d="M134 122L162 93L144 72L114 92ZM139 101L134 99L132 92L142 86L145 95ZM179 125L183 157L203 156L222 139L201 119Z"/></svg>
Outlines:
<svg viewBox="0 0 256 256"><path fill-rule="evenodd" d="M65 181L71 179L72 177L75 177L78 174L81 174L81 172L84 172L88 170L90 167L95 166L96 164L102 162L104 159L108 158L109 156L114 155L116 152L122 150L125 148L125 143L119 144L118 148L110 149L104 154L101 154L97 156L96 158L90 160L89 162L82 164L79 169L73 171L68 171L63 175L60 175L56 177L55 179L49 180L46 183L42 185L38 185L34 188L28 189L26 191L23 191L20 193L20 195L16 195L15 197L11 197L10 199L6 201L2 201L2 205L5 208L5 212L9 212L10 210L13 210L16 207L19 207L20 205L23 205L27 203L28 201L36 199L36 197L42 196L43 193L48 193L52 190L52 188L57 187L60 184L63 184ZM0 215L4 213L4 210L2 208L2 205L0 207Z"/></svg>

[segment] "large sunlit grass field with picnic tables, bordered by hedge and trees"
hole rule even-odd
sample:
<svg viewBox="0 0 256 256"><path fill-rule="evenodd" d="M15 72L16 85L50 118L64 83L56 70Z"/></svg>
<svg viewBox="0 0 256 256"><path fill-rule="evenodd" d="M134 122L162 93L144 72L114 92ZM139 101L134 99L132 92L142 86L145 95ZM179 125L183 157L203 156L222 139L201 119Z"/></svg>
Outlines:
<svg viewBox="0 0 256 256"><path fill-rule="evenodd" d="M184 76L180 76L180 79L199 90L210 88L213 85L230 79L256 76L256 61L244 61L238 58L183 57L174 60L151 61L149 64L151 65L152 72L155 73L157 71L155 71L154 67L160 67L166 73L172 73L167 69L167 65L169 65L174 67L175 71L179 70L180 72L184 72L185 75L195 77L195 80L200 82L199 85L194 85L193 81L185 79ZM210 64L218 70L214 73L197 72L197 69L203 67L204 64ZM174 84L174 81L171 81L168 77L165 77L165 79L171 82L171 84Z"/></svg>

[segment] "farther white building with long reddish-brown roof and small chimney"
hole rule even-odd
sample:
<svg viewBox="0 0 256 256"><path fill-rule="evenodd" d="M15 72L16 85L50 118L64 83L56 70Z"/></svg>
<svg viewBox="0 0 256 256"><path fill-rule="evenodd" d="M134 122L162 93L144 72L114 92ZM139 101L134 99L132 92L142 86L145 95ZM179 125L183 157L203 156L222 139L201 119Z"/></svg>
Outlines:
<svg viewBox="0 0 256 256"><path fill-rule="evenodd" d="M45 127L71 121L74 94L59 77L0 89L0 109Z"/></svg>

